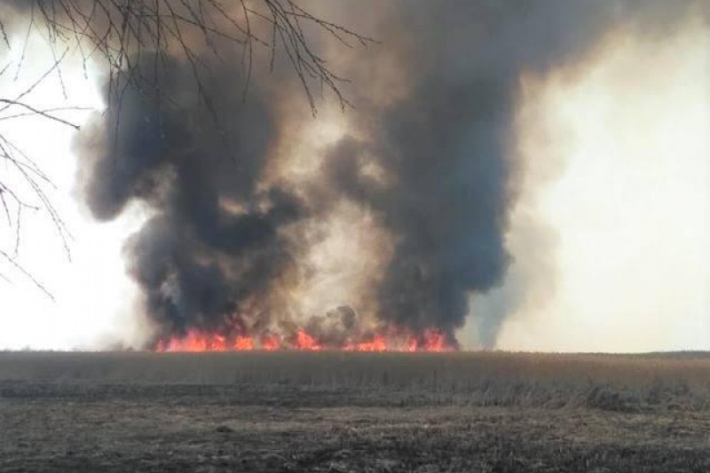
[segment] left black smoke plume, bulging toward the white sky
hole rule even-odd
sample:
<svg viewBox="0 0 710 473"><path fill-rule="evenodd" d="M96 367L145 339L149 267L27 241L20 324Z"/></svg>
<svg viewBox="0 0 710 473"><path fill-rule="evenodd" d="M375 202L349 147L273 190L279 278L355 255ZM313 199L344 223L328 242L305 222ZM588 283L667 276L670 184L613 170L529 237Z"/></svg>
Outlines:
<svg viewBox="0 0 710 473"><path fill-rule="evenodd" d="M145 60L143 80L121 83L121 102L83 132L79 182L99 219L132 201L154 211L124 249L151 319L167 333L217 329L293 263L279 229L304 208L288 189L257 188L277 131L256 88L242 99L238 68L201 78L220 98L210 105L190 67L176 60L151 75Z"/></svg>

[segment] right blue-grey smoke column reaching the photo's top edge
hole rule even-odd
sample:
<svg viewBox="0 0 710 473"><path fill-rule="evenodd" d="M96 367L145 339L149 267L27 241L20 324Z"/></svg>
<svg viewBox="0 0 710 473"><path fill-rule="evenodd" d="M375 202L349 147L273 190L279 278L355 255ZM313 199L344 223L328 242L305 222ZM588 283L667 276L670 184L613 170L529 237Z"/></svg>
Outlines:
<svg viewBox="0 0 710 473"><path fill-rule="evenodd" d="M615 27L663 35L687 11L612 0L402 1L383 11L373 34L384 38L379 53L387 59L373 61L383 66L380 74L367 69L360 80L382 80L394 62L406 93L385 106L367 91L359 97L367 142L346 138L335 146L326 175L375 209L398 239L378 292L380 316L417 330L438 327L454 339L469 296L500 286L514 261L506 233L525 172L511 149L521 75L582 62ZM391 185L380 188L361 175L364 154L378 156ZM522 295L510 297L512 307ZM506 313L480 314L479 343L494 346Z"/></svg>

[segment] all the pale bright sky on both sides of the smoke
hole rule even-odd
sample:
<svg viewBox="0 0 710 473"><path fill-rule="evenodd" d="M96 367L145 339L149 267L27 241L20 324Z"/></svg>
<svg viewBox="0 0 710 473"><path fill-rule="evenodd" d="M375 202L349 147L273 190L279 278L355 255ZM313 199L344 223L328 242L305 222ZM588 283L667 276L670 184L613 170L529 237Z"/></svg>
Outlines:
<svg viewBox="0 0 710 473"><path fill-rule="evenodd" d="M51 64L32 41L17 80L0 77L4 92ZM499 288L472 297L458 334L464 348L479 348L477 313L505 311L501 350L710 350L707 51L710 30L690 18L660 39L611 32L578 64L518 78L515 154L525 177L507 234L513 263ZM44 81L33 103L93 110L62 115L74 122L100 113L96 72L70 58L62 74ZM332 141L338 121L324 114L310 126ZM73 237L67 254L46 217L24 215L19 261L53 300L0 264L8 278L0 279L0 350L140 346L149 327L122 248L150 211L133 205L97 223L77 198L73 130L36 117L0 127L51 177ZM2 234L3 248L13 236ZM522 290L522 280L532 283Z"/></svg>

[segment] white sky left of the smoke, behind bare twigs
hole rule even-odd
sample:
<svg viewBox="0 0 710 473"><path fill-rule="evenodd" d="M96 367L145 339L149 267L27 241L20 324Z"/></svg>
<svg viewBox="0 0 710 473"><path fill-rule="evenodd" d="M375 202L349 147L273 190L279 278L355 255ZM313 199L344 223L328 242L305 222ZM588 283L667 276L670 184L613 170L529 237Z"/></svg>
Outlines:
<svg viewBox="0 0 710 473"><path fill-rule="evenodd" d="M35 60L23 64L16 81L12 75L4 77L4 91L23 91L51 66L53 61L39 38L33 38L29 51ZM62 74L64 86L51 75L32 93L32 103L87 108L60 115L75 123L82 123L93 111L100 112L103 104L95 78L84 74L81 63L71 59ZM98 349L106 340L121 338L133 320L130 304L125 303L135 296L122 263L122 240L131 233L130 218L97 224L75 198L73 129L36 117L5 121L2 126L51 177L52 185L45 186L46 190L71 235L67 252L46 214L24 212L18 261L51 297L4 262L0 271L8 280L0 280L0 348ZM4 248L14 247L14 228L2 237Z"/></svg>

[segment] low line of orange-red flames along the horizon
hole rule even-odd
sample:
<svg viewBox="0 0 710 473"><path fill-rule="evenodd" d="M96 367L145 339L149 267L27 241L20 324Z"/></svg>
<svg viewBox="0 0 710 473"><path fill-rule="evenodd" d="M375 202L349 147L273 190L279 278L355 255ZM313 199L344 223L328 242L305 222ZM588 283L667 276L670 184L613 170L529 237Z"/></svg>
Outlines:
<svg viewBox="0 0 710 473"><path fill-rule="evenodd" d="M346 343L324 343L304 329L292 335L227 336L192 328L185 335L173 335L160 340L155 351L453 351L446 335L435 328L415 334L408 329L389 328L382 333L364 336Z"/></svg>

